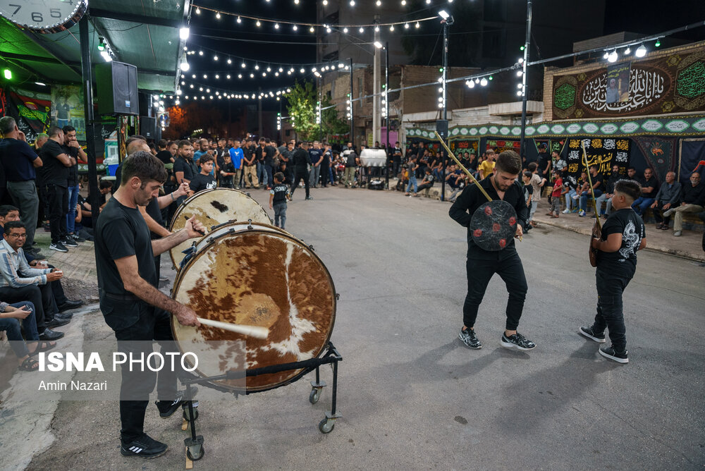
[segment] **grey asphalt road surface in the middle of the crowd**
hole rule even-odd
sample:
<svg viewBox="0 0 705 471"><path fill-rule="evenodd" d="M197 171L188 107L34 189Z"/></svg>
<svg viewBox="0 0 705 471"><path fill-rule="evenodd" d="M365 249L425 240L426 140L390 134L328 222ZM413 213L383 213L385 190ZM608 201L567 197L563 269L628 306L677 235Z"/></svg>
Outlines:
<svg viewBox="0 0 705 471"><path fill-rule="evenodd" d="M200 405L198 470L702 469L705 465L705 268L639 253L624 296L629 365L577 334L594 317L594 269L584 236L538 228L519 243L529 282L520 332L529 353L499 346L506 290L491 281L476 325L458 340L465 228L448 203L398 192L297 191L286 229L314 246L341 295L331 340L343 354L338 419L317 429L330 387L309 404L309 380ZM258 200L268 195L253 193ZM648 234L647 234L648 240ZM109 336L99 314L76 335ZM322 370L331 384L331 372ZM150 405L146 431L170 449L123 458L115 403L59 403L44 469L183 469L180 418ZM48 447L48 448L47 448ZM9 450L6 453L12 453ZM27 457L28 458L28 457ZM2 460L2 458L0 458Z"/></svg>

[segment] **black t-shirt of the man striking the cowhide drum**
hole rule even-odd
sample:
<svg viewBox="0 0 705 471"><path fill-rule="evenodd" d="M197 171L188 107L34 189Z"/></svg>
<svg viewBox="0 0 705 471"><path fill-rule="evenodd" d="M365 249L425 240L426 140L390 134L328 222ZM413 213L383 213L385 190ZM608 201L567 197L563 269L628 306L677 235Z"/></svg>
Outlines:
<svg viewBox="0 0 705 471"><path fill-rule="evenodd" d="M157 284L152 240L142 213L111 198L98 216L95 228L95 263L98 289L102 293L130 294L125 290L114 260L135 255L140 276L152 286Z"/></svg>

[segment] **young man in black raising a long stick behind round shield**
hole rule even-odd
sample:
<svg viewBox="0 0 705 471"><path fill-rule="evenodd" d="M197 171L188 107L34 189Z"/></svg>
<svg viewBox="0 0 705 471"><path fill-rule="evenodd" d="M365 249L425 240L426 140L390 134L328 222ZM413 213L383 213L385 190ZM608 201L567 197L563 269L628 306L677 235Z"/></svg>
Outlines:
<svg viewBox="0 0 705 471"><path fill-rule="evenodd" d="M517 231L515 237L523 234L527 224L527 209L524 191L516 178L522 169L522 161L513 150L499 154L493 173L479 182L482 188L493 200L504 200L512 205L517 212ZM477 185L467 185L450 207L450 217L467 230L467 296L462 305L462 329L458 337L469 348L482 348L474 331L477 310L484 297L487 285L494 274L502 277L509 292L507 303L507 322L500 345L505 348L531 350L536 344L517 332L519 319L524 310L524 300L527 294L527 279L524 274L522 260L517 254L514 240L498 252L489 252L474 243L470 233L470 221L475 210L487 200Z"/></svg>

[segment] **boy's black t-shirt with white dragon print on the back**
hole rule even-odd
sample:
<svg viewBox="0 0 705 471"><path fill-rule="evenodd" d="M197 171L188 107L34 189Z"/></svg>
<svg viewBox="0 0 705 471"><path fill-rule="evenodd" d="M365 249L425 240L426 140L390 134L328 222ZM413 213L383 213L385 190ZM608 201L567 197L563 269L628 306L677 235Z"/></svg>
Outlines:
<svg viewBox="0 0 705 471"><path fill-rule="evenodd" d="M601 240L610 234L622 234L622 246L617 252L597 251L597 269L629 278L637 268L637 250L646 237L644 221L632 208L613 212L602 225Z"/></svg>

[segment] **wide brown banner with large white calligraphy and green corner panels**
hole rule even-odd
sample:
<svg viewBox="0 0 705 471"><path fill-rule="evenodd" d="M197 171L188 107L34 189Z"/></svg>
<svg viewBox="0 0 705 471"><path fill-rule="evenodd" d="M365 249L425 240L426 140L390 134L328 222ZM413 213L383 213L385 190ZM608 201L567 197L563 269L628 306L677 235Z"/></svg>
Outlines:
<svg viewBox="0 0 705 471"><path fill-rule="evenodd" d="M553 116L604 118L705 111L705 50L634 61L628 95L608 99L608 88L607 68L554 76Z"/></svg>

